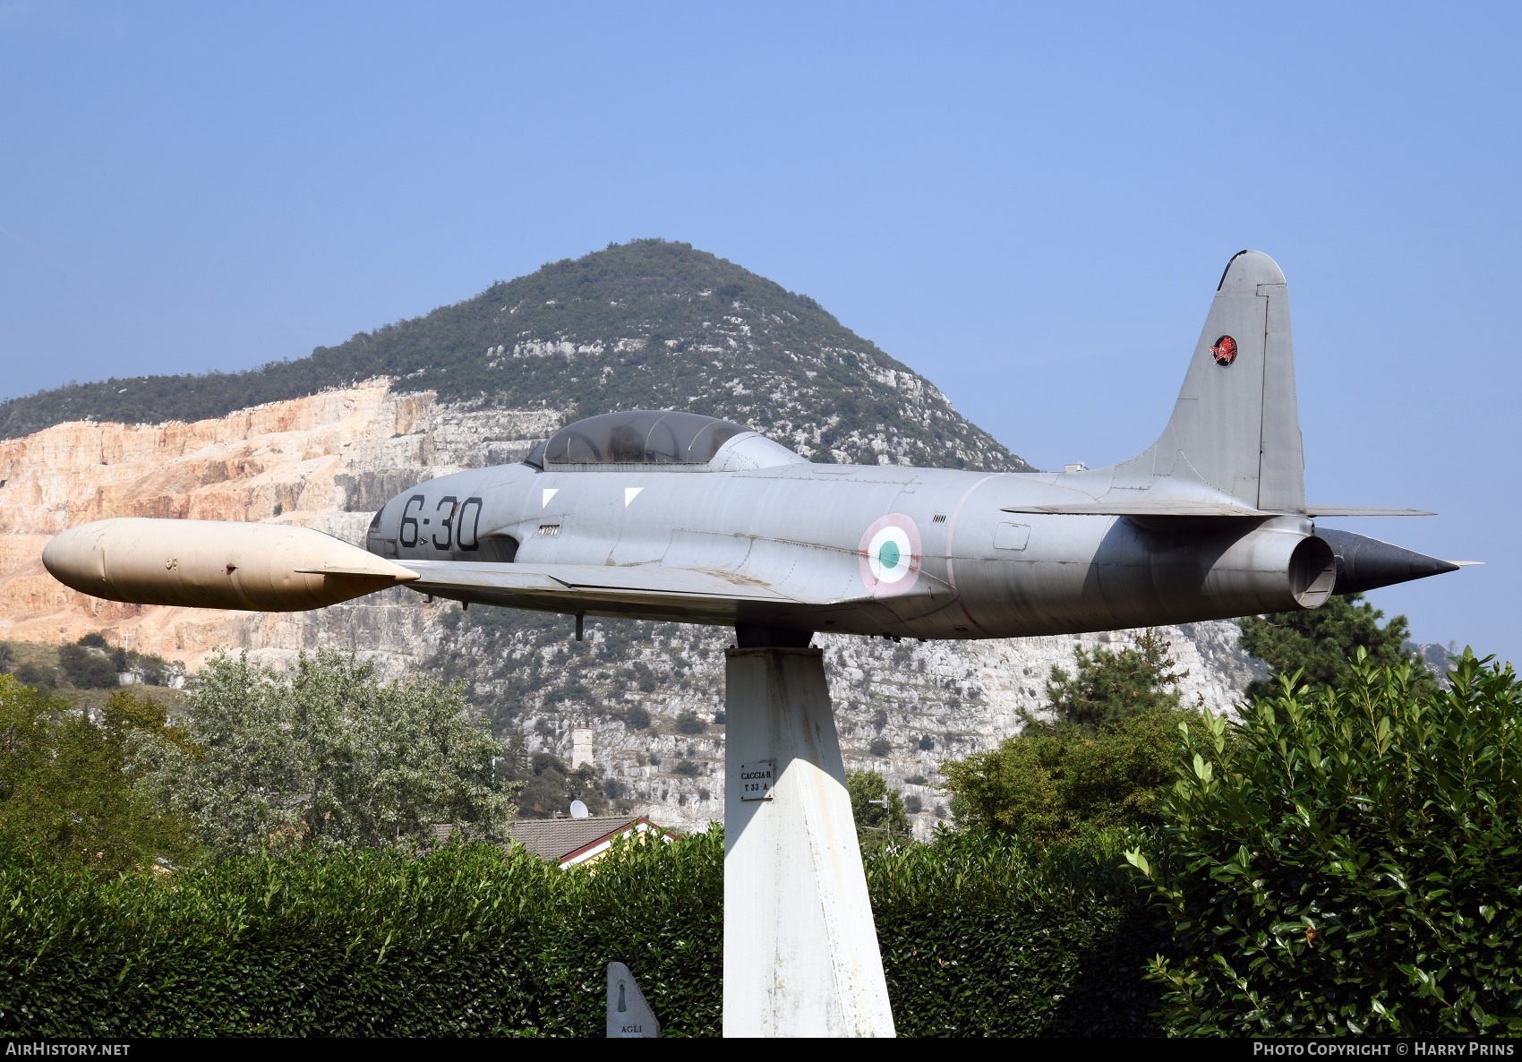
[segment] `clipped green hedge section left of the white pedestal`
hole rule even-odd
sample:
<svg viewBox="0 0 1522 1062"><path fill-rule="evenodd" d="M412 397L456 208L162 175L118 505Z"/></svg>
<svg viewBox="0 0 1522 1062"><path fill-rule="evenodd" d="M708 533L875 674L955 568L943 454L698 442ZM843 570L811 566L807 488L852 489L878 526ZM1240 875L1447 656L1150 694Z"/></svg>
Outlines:
<svg viewBox="0 0 1522 1062"><path fill-rule="evenodd" d="M715 1035L721 840L600 873L522 849L239 857L163 881L0 872L0 1035L601 1035L627 962Z"/></svg>

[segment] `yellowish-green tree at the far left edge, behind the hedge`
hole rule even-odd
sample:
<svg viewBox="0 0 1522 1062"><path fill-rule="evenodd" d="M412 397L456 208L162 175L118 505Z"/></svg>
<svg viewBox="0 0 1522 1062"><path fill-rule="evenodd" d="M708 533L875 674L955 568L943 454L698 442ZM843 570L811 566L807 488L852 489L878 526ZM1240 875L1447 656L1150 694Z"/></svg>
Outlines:
<svg viewBox="0 0 1522 1062"><path fill-rule="evenodd" d="M102 872L143 869L192 851L189 823L139 793L123 771L134 735L177 742L164 709L113 694L100 724L61 697L0 676L0 838L37 858Z"/></svg>

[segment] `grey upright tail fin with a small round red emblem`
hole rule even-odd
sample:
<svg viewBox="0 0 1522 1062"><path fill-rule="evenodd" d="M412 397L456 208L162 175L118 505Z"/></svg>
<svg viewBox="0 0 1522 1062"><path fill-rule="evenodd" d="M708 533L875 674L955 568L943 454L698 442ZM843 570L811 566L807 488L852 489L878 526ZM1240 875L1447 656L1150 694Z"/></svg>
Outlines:
<svg viewBox="0 0 1522 1062"><path fill-rule="evenodd" d="M1240 251L1227 263L1172 420L1114 473L1116 487L1152 498L1207 485L1242 508L1306 511L1289 295L1271 257Z"/></svg>

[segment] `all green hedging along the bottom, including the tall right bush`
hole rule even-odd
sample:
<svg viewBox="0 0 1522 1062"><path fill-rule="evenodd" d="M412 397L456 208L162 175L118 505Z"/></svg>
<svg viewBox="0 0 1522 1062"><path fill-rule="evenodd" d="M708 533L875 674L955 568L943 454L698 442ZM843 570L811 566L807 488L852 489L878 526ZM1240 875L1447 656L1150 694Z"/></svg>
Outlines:
<svg viewBox="0 0 1522 1062"><path fill-rule="evenodd" d="M1522 1032L1522 685L1472 654L1450 682L1361 663L1189 724L1140 875L1116 837L868 852L898 1030ZM484 844L38 858L0 852L0 1036L598 1036L615 959L667 1033L721 1027L718 829L571 872Z"/></svg>

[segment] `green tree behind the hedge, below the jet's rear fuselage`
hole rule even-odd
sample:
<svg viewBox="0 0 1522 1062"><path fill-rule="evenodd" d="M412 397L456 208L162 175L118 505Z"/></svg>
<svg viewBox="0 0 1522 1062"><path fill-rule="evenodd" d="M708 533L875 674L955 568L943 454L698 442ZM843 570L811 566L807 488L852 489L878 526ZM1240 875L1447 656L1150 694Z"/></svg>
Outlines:
<svg viewBox="0 0 1522 1062"><path fill-rule="evenodd" d="M1173 781L1180 706L1169 644L1143 631L1117 651L1075 653L1052 668L1049 707L998 747L942 764L957 823L1018 834L1038 844L1158 822Z"/></svg>

